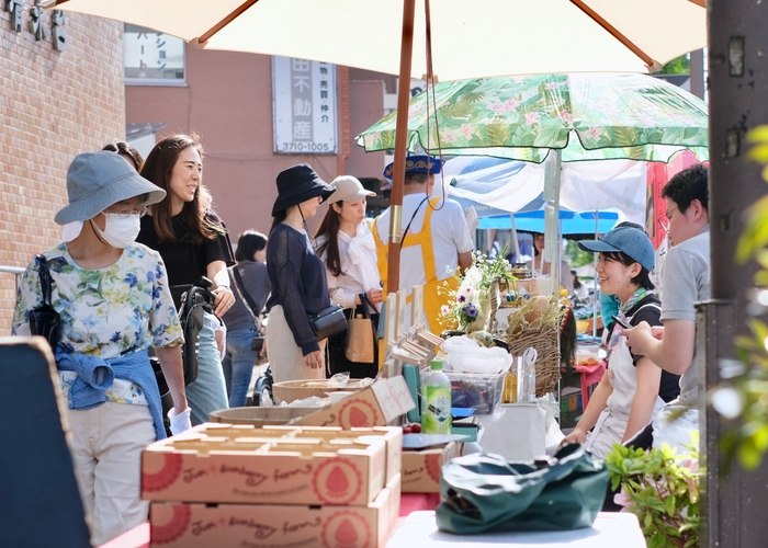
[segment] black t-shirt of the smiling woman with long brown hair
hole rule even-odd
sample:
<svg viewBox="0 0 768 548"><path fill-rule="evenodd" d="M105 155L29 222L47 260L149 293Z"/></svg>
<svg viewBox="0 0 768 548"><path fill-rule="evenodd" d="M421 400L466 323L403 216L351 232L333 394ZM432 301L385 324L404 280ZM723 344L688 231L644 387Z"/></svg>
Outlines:
<svg viewBox="0 0 768 548"><path fill-rule="evenodd" d="M226 229L222 219L213 213L205 214L206 217ZM229 233L218 235L207 240L205 243L193 244L190 242L189 228L182 215L171 217L174 242L160 242L155 224L149 215L142 217L142 231L136 241L144 243L160 253L162 262L168 271L168 284L172 286L190 286L205 276L206 267L214 261L224 261L227 266L235 264L231 252ZM173 300L177 301L178 292L171 289ZM177 301L177 307L179 302Z"/></svg>

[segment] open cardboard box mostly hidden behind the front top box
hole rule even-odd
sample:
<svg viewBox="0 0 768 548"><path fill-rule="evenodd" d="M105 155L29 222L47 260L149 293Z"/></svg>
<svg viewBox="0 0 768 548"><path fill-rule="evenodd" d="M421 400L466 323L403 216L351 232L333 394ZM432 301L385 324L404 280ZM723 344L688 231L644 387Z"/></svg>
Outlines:
<svg viewBox="0 0 768 548"><path fill-rule="evenodd" d="M374 426L372 429L343 430L340 426L287 426L270 425L259 427L253 425L234 425L204 423L188 430L176 439L204 438L206 436L224 437L230 441L253 438L270 442L274 438L319 438L327 442L334 439L357 439L365 443L369 439L383 441L386 444L385 482L392 481L400 473L403 465L403 429L400 426Z"/></svg>

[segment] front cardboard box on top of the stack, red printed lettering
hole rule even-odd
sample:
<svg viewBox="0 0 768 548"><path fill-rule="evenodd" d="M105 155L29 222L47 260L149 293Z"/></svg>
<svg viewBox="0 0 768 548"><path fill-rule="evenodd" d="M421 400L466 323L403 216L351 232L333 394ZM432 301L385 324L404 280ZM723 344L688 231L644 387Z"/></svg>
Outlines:
<svg viewBox="0 0 768 548"><path fill-rule="evenodd" d="M142 453L142 499L362 506L384 488L385 463L371 437L171 437Z"/></svg>

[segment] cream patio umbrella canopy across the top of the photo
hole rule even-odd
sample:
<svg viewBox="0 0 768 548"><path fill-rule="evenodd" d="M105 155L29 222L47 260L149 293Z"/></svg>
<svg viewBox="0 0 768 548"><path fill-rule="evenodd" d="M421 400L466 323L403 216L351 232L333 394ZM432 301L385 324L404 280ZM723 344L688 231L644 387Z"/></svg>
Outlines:
<svg viewBox="0 0 768 548"><path fill-rule="evenodd" d="M404 0L47 0L206 49L399 73ZM439 0L430 7L441 80L577 71L648 72L707 45L701 0ZM427 73L423 0L410 76ZM650 70L651 69L651 70Z"/></svg>

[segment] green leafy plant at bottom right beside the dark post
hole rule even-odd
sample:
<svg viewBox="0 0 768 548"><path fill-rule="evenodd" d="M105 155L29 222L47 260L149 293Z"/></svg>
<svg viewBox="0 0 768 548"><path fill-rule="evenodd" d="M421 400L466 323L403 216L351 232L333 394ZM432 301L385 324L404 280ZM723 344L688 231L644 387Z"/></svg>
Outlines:
<svg viewBox="0 0 768 548"><path fill-rule="evenodd" d="M698 436L693 447L698 446ZM614 445L606 456L618 501L637 516L648 548L699 546L699 454Z"/></svg>

